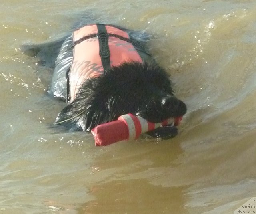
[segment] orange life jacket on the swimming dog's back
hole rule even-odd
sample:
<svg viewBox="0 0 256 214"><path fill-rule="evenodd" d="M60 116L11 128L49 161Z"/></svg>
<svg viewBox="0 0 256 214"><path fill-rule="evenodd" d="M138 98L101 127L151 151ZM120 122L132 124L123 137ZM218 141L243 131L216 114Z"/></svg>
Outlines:
<svg viewBox="0 0 256 214"><path fill-rule="evenodd" d="M106 47L104 46L106 44L101 44L98 25L84 26L73 32L74 51L69 73L68 100L72 101L75 98L86 79L98 77L104 73L106 61L109 61L109 67L130 61L142 63L142 58L130 41L128 33L114 26L101 25L106 29L106 33L102 34L107 36L106 41L103 38L103 43L105 42L108 46Z"/></svg>

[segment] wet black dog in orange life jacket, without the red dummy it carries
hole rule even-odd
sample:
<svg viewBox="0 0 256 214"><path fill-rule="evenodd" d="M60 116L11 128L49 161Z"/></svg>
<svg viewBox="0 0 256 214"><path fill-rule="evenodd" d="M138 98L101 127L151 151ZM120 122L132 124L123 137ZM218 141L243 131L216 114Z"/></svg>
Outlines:
<svg viewBox="0 0 256 214"><path fill-rule="evenodd" d="M135 32L113 25L88 25L68 36L49 90L68 103L55 124L90 131L126 113L154 123L184 115L186 105L175 97L168 75L145 46ZM163 138L177 133L171 126L149 132Z"/></svg>

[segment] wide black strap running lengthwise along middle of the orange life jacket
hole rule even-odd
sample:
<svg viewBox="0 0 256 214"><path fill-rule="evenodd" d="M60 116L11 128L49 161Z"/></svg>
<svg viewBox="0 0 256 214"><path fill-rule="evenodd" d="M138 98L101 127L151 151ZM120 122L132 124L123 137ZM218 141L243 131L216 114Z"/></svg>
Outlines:
<svg viewBox="0 0 256 214"><path fill-rule="evenodd" d="M108 47L108 32L104 24L97 24L98 28L98 40L100 46L100 58L104 72L110 69L110 51Z"/></svg>

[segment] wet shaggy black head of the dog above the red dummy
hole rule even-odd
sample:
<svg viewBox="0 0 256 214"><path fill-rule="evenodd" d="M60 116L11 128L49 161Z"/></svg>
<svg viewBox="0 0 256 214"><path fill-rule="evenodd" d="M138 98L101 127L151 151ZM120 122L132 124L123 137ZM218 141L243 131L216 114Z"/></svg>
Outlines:
<svg viewBox="0 0 256 214"><path fill-rule="evenodd" d="M184 115L186 105L175 97L170 79L162 68L123 63L100 77L86 80L55 123L73 130L90 131L126 113L158 123Z"/></svg>

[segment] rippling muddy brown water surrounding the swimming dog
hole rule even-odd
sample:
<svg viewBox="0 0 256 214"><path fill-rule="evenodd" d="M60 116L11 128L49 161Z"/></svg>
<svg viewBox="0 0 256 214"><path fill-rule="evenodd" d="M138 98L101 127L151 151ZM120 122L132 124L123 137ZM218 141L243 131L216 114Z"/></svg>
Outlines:
<svg viewBox="0 0 256 214"><path fill-rule="evenodd" d="M227 214L256 197L256 2L2 0L0 213ZM64 103L26 42L84 13L146 30L188 106L177 137L95 147L51 127Z"/></svg>

